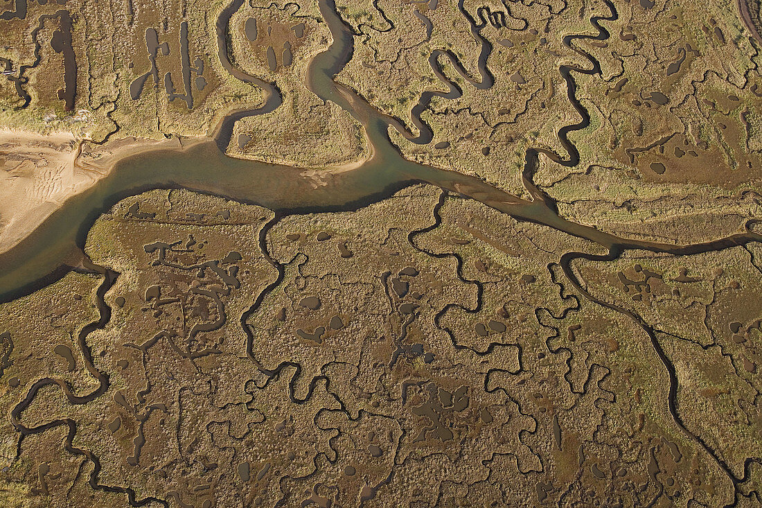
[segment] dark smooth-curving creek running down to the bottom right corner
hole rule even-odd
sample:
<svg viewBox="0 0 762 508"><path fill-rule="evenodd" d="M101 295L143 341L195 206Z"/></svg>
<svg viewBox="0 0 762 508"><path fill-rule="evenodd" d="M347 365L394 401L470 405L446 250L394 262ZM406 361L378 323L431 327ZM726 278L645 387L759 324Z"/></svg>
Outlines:
<svg viewBox="0 0 762 508"><path fill-rule="evenodd" d="M712 251L718 251L722 249L729 249L734 247L735 244L732 243L718 243L716 245L716 249L708 249L703 252L709 252L709 250ZM610 252L606 255L593 255L588 254L584 252L567 252L565 255L561 257L560 265L561 268L566 275L566 278L568 278L568 281L571 283L571 285L575 288L576 291L578 291L579 294L587 298L589 301L593 302L594 304L600 305L601 307L606 307L607 309L614 310L615 312L621 313L626 317L629 317L630 320L632 320L634 323L636 323L645 333L648 335L648 339L651 341L651 344L654 348L654 351L656 352L656 355L661 360L661 363L664 365L664 369L667 371L668 377L669 377L669 391L668 391L668 397L667 397L667 405L669 412L672 416L672 419L674 420L674 423L677 425L677 427L684 432L686 436L688 436L690 439L692 439L694 442L696 442L698 445L701 446L701 448L704 449L706 453L708 453L714 461L716 461L717 465L719 465L719 468L722 469L722 471L725 473L725 475L730 479L730 481L733 484L734 489L734 495L735 500L733 503L726 505L727 506L735 506L738 503L738 496L740 494L740 491L738 489L740 484L744 484L746 481L749 481L751 479L751 472L750 468L752 464L762 464L762 458L759 457L749 457L746 458L744 461L744 474L741 477L738 477L728 466L728 463L725 462L723 458L721 458L718 453L710 447L704 439L696 434L695 432L692 432L690 429L687 428L685 425L682 416L680 416L680 411L677 407L677 389L679 387L678 380L677 380L677 371L674 368L674 364L672 363L671 359L668 357L668 355L664 352L664 349L661 347L661 343L658 341L658 338L656 336L654 328L649 325L648 323L643 320L642 317L640 317L638 314L631 312L630 310L627 310L623 307L620 307L616 304L610 304L607 301L602 301L597 297L592 296L587 290L585 290L581 282L578 280L577 276L575 275L574 269L571 266L571 263L574 262L576 259L584 259L587 261L593 261L593 262L609 262L614 261L616 259L620 259L620 256L622 256L624 250L618 247L614 247L610 249ZM696 252L691 252L696 253Z"/></svg>

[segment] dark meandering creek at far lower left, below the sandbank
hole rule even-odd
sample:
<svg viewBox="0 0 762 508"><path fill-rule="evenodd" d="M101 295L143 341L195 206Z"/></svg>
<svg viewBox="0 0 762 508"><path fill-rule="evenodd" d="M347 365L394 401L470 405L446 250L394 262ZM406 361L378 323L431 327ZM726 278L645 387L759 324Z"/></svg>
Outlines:
<svg viewBox="0 0 762 508"><path fill-rule="evenodd" d="M66 395L66 399L69 401L69 404L82 405L88 404L88 402L91 402L92 400L95 400L96 398L103 395L110 386L109 376L107 373L99 371L98 368L96 368L94 365L92 351L88 345L87 338L90 333L94 332L94 330L103 330L109 323L111 319L111 308L106 304L104 297L107 291L109 291L110 288L112 288L116 283L119 274L113 270L110 270L109 268L93 265L91 263L86 263L85 269L88 272L97 273L104 276L103 283L95 293L95 300L99 313L98 320L93 321L92 323L88 323L82 327L77 340L79 352L82 354L82 358L85 359L85 368L87 368L88 372L90 372L90 374L98 380L98 388L89 394L76 395L74 393L74 388L69 383L69 381L63 381L61 379L55 378L42 378L35 382L32 387L30 387L26 397L24 397L24 399L16 404L13 410L11 410L11 423L13 424L16 431L20 434L18 443L16 445L16 458L18 459L18 457L21 455L21 444L24 441L25 437L34 436L35 434L40 434L41 432L46 432L47 430L55 429L59 426L66 426L68 428L68 432L66 434L64 448L72 455L81 455L92 462L93 471L90 474L88 483L94 490L102 490L104 492L115 494L126 494L131 506L146 506L149 503L159 503L162 504L162 506L169 506L169 503L166 501L159 500L155 497L145 497L139 500L136 497L135 491L129 487L112 487L110 485L99 484L98 476L101 473L101 461L98 456L94 455L92 452L74 447L73 441L77 432L77 423L74 420L69 418L57 419L35 427L24 426L24 424L19 421L21 413L23 413L24 410L30 406L30 404L34 401L34 397L37 395L37 392L40 391L40 389L43 387L56 384L61 387L61 390Z"/></svg>

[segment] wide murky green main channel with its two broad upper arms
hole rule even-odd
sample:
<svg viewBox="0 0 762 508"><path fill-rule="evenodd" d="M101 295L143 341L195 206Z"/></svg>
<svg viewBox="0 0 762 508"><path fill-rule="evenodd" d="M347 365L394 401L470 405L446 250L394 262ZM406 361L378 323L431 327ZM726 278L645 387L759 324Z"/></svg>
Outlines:
<svg viewBox="0 0 762 508"><path fill-rule="evenodd" d="M21 243L0 254L0 301L27 293L42 285L43 278L50 274L60 273L67 265L81 263L87 232L98 216L120 199L152 188L186 188L246 204L259 204L283 213L299 213L356 209L391 195L409 183L427 182L467 195L517 219L543 223L603 246L664 251L674 247L625 242L594 228L570 223L541 200L525 201L478 178L404 159L389 141L389 118L383 117L357 95L339 88L332 79L354 50L351 31L336 13L333 0L320 0L319 6L334 41L312 60L306 85L315 95L335 102L363 124L373 157L358 169L333 174L326 172L323 176L325 185L315 185L312 178L303 176L305 169L226 156L218 146L227 146L235 120L273 111L280 104L276 85L261 82L232 68L226 54L227 24L242 4L242 0L232 0L219 14L219 59L233 76L261 85L266 92L266 104L255 110L232 111L220 122L212 137L187 149L156 150L117 162L101 181L69 198Z"/></svg>

